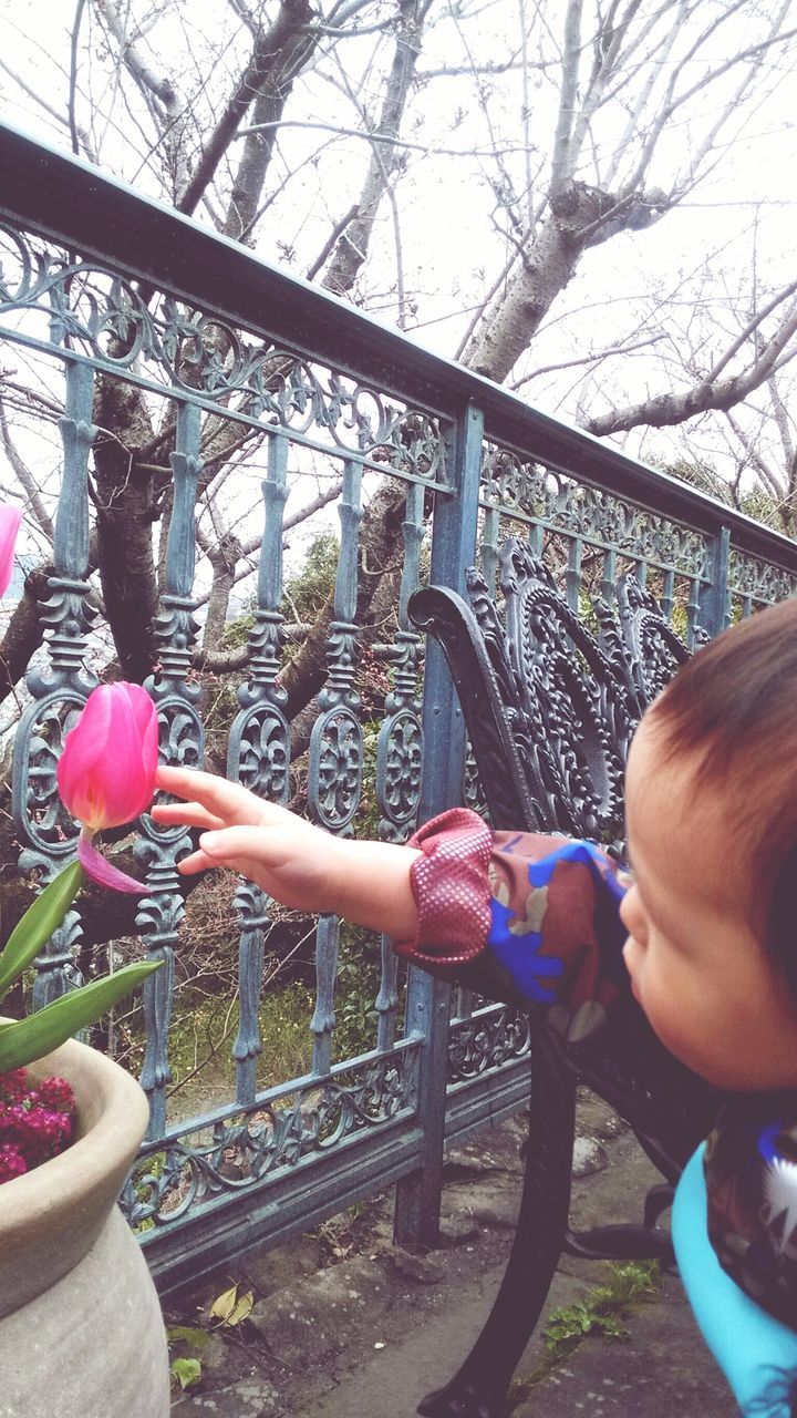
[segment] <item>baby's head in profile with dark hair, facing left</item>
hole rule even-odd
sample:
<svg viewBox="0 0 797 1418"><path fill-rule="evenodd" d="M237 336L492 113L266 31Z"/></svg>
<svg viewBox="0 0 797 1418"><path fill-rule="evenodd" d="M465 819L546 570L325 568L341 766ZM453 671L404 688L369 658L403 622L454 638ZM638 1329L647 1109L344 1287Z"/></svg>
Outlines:
<svg viewBox="0 0 797 1418"><path fill-rule="evenodd" d="M797 601L701 649L627 773L634 993L712 1083L797 1088Z"/></svg>

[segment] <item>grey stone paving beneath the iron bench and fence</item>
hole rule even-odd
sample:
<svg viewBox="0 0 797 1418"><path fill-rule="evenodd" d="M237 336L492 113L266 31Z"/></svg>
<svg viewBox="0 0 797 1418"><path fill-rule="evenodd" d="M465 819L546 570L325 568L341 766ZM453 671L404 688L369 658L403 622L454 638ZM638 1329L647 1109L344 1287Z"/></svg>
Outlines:
<svg viewBox="0 0 797 1418"><path fill-rule="evenodd" d="M522 1122L482 1133L450 1154L441 1246L397 1251L390 1198L336 1218L279 1252L250 1256L174 1319L240 1283L254 1307L216 1332L201 1383L174 1401L174 1418L413 1418L451 1377L498 1289L515 1224ZM658 1180L631 1134L593 1099L580 1112L573 1222L634 1219ZM563 1258L550 1307L569 1306L604 1268ZM730 1394L693 1326L678 1279L623 1317L628 1337L589 1336L552 1367L537 1332L511 1394L512 1418L732 1418Z"/></svg>

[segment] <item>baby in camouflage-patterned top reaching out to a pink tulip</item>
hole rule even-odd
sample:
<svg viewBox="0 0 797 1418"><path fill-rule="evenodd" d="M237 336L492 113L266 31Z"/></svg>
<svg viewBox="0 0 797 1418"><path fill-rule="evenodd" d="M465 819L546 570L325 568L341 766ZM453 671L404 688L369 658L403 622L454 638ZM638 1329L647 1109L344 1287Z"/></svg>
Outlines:
<svg viewBox="0 0 797 1418"><path fill-rule="evenodd" d="M601 1022L630 983L667 1048L740 1095L705 1160L709 1229L725 1269L771 1327L762 1361L771 1377L797 1371L794 739L797 603L786 601L701 649L645 715L627 767L630 883L597 847L492 832L462 808L425 824L406 847L352 841L184 769L160 769L159 786L183 801L153 817L201 830L183 873L231 868L288 906L384 932L435 973L486 981L485 993L498 997L564 1004L570 1038ZM689 1177L693 1185L693 1170ZM702 1176L695 1205L705 1234L701 1185ZM689 1254L692 1211L681 1227ZM750 1305L710 1248L709 1258L722 1296L712 1316L729 1293ZM701 1275L708 1263L703 1256ZM743 1319L733 1317L728 1358L726 1326L718 1339L695 1307L743 1409L754 1391L756 1412L790 1418L791 1380L760 1407L762 1366L753 1378L729 1371L745 1349Z"/></svg>

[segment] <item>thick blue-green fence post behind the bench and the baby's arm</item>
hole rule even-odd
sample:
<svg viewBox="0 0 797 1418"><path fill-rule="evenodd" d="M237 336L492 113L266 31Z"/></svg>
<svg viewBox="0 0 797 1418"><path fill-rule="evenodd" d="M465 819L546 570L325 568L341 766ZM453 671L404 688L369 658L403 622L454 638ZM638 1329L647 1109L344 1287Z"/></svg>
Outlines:
<svg viewBox="0 0 797 1418"><path fill-rule="evenodd" d="M431 543L433 586L465 590L465 567L474 563L479 509L484 418L468 404L447 440L447 465L454 496L440 496ZM458 805L462 794L465 726L448 666L437 641L428 640L423 700L424 761L418 820ZM434 1246L440 1229L448 1018L451 986L410 968L407 1035L423 1035L418 1061L418 1124L423 1161L396 1187L394 1235L398 1245Z"/></svg>

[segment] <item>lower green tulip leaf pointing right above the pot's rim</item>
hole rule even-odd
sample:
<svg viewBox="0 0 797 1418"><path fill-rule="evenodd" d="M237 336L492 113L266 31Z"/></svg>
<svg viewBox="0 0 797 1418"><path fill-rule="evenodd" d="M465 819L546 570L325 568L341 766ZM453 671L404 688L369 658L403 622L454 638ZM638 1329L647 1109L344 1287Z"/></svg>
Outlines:
<svg viewBox="0 0 797 1418"><path fill-rule="evenodd" d="M102 980L92 980L71 994L62 994L44 1010L37 1010L27 1020L18 1020L0 1031L0 1073L24 1068L26 1064L33 1064L34 1059L57 1049L60 1044L65 1044L72 1034L99 1020L122 995L135 990L162 964L162 960L143 960L139 964L125 966L118 974L104 976Z"/></svg>

